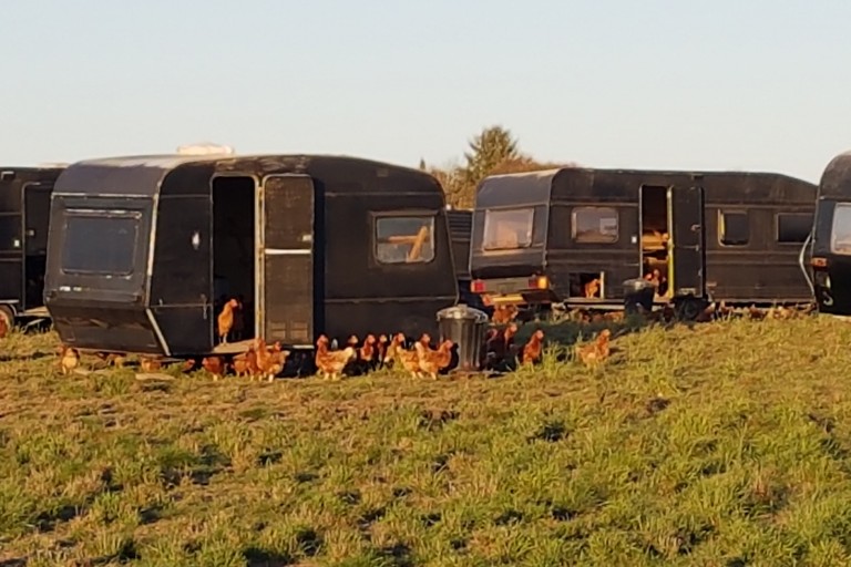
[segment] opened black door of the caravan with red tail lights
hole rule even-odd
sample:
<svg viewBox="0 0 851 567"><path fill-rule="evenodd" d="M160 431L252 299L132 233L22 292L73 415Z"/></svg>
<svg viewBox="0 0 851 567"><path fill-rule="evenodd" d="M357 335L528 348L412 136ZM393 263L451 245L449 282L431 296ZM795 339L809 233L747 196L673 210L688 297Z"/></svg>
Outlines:
<svg viewBox="0 0 851 567"><path fill-rule="evenodd" d="M674 297L704 297L704 189L668 188L668 225Z"/></svg>

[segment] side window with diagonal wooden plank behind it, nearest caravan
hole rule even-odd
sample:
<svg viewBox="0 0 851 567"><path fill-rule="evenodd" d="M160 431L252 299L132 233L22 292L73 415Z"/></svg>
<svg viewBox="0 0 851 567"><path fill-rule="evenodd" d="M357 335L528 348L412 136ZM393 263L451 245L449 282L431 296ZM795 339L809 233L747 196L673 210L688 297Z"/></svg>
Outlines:
<svg viewBox="0 0 851 567"><path fill-rule="evenodd" d="M433 260L434 217L378 217L375 250L380 264L421 264Z"/></svg>

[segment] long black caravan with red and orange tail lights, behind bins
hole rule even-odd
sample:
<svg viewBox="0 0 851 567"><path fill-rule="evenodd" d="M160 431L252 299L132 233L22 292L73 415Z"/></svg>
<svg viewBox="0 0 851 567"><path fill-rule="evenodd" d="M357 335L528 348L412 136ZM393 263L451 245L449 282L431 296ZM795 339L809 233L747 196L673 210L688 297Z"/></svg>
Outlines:
<svg viewBox="0 0 851 567"><path fill-rule="evenodd" d="M472 287L486 302L619 307L624 281L690 308L812 301L798 256L817 187L785 175L560 168L479 186ZM694 312L694 311L693 311Z"/></svg>

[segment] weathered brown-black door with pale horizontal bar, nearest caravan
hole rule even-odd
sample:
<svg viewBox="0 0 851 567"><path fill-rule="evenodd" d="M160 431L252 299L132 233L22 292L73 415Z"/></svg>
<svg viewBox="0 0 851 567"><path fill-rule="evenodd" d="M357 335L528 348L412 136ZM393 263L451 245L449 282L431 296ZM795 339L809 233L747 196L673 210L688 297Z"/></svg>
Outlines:
<svg viewBox="0 0 851 567"><path fill-rule="evenodd" d="M314 342L314 182L270 175L260 187L257 337L290 347Z"/></svg>

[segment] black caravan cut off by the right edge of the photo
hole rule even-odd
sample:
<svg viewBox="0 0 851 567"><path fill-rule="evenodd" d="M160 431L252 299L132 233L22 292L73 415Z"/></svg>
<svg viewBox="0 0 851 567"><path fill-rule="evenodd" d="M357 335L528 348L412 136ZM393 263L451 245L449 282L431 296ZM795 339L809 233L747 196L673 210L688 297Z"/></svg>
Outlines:
<svg viewBox="0 0 851 567"><path fill-rule="evenodd" d="M851 152L834 157L821 176L811 255L819 311L851 316Z"/></svg>

